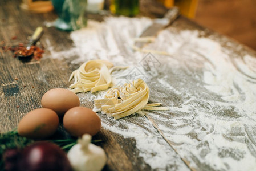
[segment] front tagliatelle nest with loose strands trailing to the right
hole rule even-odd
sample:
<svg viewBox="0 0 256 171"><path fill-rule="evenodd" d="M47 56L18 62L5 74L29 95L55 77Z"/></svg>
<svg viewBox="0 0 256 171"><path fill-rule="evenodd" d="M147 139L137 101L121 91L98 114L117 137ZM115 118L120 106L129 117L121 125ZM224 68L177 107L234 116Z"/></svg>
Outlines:
<svg viewBox="0 0 256 171"><path fill-rule="evenodd" d="M102 111L109 117L119 119L133 113L140 113L145 110L168 110L168 107L157 107L160 103L148 104L149 88L141 80L134 80L124 86L117 86L109 89L103 99L95 99L96 109Z"/></svg>

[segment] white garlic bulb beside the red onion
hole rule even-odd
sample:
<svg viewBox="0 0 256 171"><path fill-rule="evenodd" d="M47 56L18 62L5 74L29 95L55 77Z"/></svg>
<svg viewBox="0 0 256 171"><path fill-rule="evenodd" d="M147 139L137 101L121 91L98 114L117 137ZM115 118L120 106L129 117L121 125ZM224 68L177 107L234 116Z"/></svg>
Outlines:
<svg viewBox="0 0 256 171"><path fill-rule="evenodd" d="M75 171L100 171L107 162L104 150L91 144L91 135L88 134L78 140L78 144L68 151L67 157Z"/></svg>

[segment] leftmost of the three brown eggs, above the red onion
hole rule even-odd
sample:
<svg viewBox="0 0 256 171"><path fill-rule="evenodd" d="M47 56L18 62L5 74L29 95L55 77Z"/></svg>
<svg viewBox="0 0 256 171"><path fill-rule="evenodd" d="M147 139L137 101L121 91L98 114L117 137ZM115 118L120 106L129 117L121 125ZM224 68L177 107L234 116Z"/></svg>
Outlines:
<svg viewBox="0 0 256 171"><path fill-rule="evenodd" d="M32 139L45 138L53 135L58 126L59 117L56 112L39 108L22 117L18 124L18 133Z"/></svg>

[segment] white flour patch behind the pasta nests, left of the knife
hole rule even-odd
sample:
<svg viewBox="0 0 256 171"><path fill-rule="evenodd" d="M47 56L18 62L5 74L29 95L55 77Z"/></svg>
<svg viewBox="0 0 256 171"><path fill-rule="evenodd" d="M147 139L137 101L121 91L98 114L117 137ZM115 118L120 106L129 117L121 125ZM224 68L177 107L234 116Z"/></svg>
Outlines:
<svg viewBox="0 0 256 171"><path fill-rule="evenodd" d="M50 46L51 57L68 58L70 54L75 54L77 58L72 63L103 59L127 65L132 62L129 58L141 56L139 53L133 53L131 49L133 38L139 36L151 23L149 18L108 17L104 22L88 20L86 28L71 32L75 46L72 52L55 52ZM120 48L127 52L120 51Z"/></svg>

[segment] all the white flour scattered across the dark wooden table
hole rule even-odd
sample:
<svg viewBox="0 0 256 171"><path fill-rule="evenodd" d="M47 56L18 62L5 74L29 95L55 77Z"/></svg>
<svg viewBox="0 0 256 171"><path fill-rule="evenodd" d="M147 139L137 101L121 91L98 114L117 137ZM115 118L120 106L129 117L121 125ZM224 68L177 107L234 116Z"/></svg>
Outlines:
<svg viewBox="0 0 256 171"><path fill-rule="evenodd" d="M118 23L118 24L116 24ZM148 18L109 17L104 22L88 21L88 27L71 32L74 48L55 52L52 58L76 54L74 64L105 59L130 66L113 73L113 82L125 82L136 69L151 88L150 101L170 106L170 111L149 114L177 153L196 170L254 170L256 168L256 58L238 56L222 47L214 36L174 27L163 30L145 49L166 51L157 55L158 67L141 66L145 54L131 49L132 39L152 23ZM227 43L231 44L231 43ZM48 46L50 43L48 42ZM64 56L66 55L66 56ZM138 76L138 75L137 75ZM100 93L79 94L80 101L92 101ZM103 128L136 141L139 156L152 169L186 170L174 150L151 123L138 117L147 129L129 119L103 120ZM162 124L164 123L164 124ZM120 128L119 124L126 129ZM152 155L153 154L153 155ZM170 169L171 170L171 169Z"/></svg>

